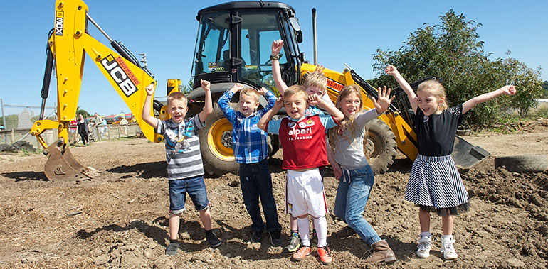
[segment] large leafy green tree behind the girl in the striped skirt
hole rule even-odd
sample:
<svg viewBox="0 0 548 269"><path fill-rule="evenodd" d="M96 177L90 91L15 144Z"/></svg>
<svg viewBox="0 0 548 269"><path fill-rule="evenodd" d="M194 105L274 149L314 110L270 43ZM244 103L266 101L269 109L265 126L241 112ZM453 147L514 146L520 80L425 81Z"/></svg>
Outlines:
<svg viewBox="0 0 548 269"><path fill-rule="evenodd" d="M395 65L409 82L428 76L441 77L450 106L461 104L509 82L517 84L518 92L524 86L518 82L527 80L530 85L536 85L532 81L538 80L538 75L535 77L536 73L531 72L522 62L510 57L495 61L489 59L490 53L485 53L483 41L479 40L480 23L467 21L462 13L456 14L452 9L440 16L440 19L440 24L431 26L425 23L423 28L411 33L399 50L377 50L374 70L380 76L375 84L397 87L392 77L384 75L384 68L389 64ZM505 100L516 98L505 97L502 102L520 111L527 111L528 101L519 103ZM522 97L532 98L530 94ZM476 106L465 114L465 122L473 125L493 123L492 119L501 116L499 101L495 99Z"/></svg>

